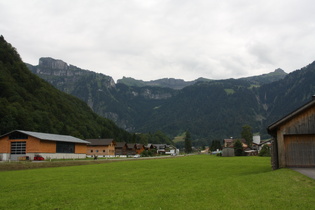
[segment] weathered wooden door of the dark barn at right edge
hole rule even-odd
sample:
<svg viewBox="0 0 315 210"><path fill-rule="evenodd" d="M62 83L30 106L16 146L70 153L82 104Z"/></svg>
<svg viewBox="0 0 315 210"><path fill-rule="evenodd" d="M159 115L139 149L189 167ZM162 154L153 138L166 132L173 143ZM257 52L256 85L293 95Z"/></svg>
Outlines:
<svg viewBox="0 0 315 210"><path fill-rule="evenodd" d="M315 167L315 137L311 135L285 136L287 167Z"/></svg>

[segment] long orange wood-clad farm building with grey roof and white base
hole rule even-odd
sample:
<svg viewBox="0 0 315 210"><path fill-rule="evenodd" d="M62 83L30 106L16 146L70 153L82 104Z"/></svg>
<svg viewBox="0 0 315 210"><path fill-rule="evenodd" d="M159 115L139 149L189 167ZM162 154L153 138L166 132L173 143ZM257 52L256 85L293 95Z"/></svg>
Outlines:
<svg viewBox="0 0 315 210"><path fill-rule="evenodd" d="M73 136L15 130L0 136L0 159L33 159L35 155L45 159L85 158L87 144Z"/></svg>

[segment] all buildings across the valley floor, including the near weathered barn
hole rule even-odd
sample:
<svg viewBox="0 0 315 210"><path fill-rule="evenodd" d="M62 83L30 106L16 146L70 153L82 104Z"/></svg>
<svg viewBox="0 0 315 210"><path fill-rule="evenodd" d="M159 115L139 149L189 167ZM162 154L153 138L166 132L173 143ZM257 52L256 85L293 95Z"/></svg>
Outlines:
<svg viewBox="0 0 315 210"><path fill-rule="evenodd" d="M244 139L225 139L222 150L210 153L219 156L254 156L264 148L269 151L273 169L282 167L315 166L315 96L282 119L271 124L267 130L272 136L260 141L253 136L252 142ZM221 144L221 143L219 143ZM221 147L221 145L220 145ZM273 148L272 151L270 148ZM87 157L140 157L151 155L178 155L179 149L166 144L138 144L116 142L114 139L86 139L73 136L14 130L0 136L0 160L84 159Z"/></svg>

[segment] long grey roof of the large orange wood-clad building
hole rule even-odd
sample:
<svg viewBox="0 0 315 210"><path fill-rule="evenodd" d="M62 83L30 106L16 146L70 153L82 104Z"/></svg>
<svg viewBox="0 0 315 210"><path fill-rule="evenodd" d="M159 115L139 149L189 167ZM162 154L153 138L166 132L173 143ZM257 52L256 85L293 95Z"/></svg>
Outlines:
<svg viewBox="0 0 315 210"><path fill-rule="evenodd" d="M11 133L19 132L26 134L28 136L32 136L35 138L38 138L40 140L46 140L46 141L62 141L62 142L72 142L72 143L81 143L81 144L89 144L90 142L84 141L82 139L73 137L73 136L66 136L66 135L59 135L59 134L51 134L51 133L39 133L39 132L33 132L33 131L23 131L23 130L14 130L7 134L4 134L0 137L10 135Z"/></svg>

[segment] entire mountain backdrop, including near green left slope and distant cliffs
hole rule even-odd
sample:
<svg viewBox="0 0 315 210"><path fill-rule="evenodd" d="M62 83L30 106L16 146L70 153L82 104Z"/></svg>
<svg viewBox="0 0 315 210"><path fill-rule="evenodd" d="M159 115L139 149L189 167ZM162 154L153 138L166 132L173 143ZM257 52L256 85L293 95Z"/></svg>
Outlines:
<svg viewBox="0 0 315 210"><path fill-rule="evenodd" d="M239 137L245 124L269 138L266 127L315 92L315 62L290 74L277 69L239 79L115 83L53 58L25 64L3 36L0 72L0 134L23 129L126 142L171 143L169 137L189 131L194 146L209 145Z"/></svg>

